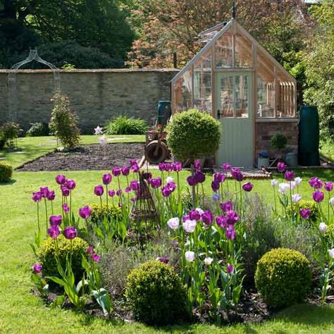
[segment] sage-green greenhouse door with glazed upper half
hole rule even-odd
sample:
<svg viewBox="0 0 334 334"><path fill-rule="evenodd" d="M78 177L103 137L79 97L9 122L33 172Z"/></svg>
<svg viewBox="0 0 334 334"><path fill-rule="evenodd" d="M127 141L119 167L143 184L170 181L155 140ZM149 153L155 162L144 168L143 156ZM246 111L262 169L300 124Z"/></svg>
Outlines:
<svg viewBox="0 0 334 334"><path fill-rule="evenodd" d="M216 73L216 111L223 134L217 163L235 167L254 164L253 73Z"/></svg>

